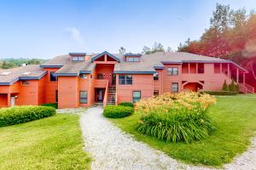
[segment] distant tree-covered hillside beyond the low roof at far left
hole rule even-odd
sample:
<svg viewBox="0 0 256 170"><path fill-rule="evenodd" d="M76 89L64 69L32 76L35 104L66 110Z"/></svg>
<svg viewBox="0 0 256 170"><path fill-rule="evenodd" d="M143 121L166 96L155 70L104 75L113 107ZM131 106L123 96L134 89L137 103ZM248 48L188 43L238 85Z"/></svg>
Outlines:
<svg viewBox="0 0 256 170"><path fill-rule="evenodd" d="M44 63L46 59L1 59L0 60L0 69L10 69L14 67L21 66L23 63L28 65L40 65Z"/></svg>

